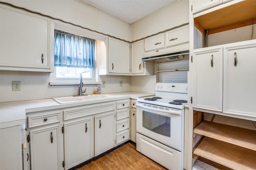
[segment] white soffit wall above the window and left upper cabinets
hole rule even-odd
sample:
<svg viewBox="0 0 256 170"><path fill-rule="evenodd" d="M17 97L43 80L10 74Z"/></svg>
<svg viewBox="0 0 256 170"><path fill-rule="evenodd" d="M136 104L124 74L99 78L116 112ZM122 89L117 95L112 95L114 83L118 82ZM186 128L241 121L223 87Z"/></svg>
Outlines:
<svg viewBox="0 0 256 170"><path fill-rule="evenodd" d="M130 41L130 24L75 0L1 0L1 2Z"/></svg>

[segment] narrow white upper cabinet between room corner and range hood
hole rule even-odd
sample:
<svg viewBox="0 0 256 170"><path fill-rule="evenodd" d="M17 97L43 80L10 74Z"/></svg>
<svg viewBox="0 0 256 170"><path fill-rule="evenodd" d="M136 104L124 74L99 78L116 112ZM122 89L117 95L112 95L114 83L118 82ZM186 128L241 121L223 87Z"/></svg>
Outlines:
<svg viewBox="0 0 256 170"><path fill-rule="evenodd" d="M132 43L132 75L153 75L154 74L154 63L141 61L144 54L144 41Z"/></svg>

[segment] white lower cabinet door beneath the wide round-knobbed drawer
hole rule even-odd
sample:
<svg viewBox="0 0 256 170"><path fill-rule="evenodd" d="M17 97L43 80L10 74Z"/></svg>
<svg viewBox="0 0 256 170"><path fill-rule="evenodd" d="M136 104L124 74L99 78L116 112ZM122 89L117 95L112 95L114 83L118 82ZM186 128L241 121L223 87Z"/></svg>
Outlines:
<svg viewBox="0 0 256 170"><path fill-rule="evenodd" d="M31 170L60 170L59 126L30 131Z"/></svg>

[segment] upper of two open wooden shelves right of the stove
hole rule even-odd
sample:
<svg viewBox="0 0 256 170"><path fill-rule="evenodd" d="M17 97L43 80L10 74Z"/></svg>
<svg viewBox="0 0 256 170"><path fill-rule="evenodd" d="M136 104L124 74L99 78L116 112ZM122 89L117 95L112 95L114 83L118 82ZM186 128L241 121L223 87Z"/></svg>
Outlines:
<svg viewBox="0 0 256 170"><path fill-rule="evenodd" d="M202 121L194 128L194 133L256 151L256 130Z"/></svg>

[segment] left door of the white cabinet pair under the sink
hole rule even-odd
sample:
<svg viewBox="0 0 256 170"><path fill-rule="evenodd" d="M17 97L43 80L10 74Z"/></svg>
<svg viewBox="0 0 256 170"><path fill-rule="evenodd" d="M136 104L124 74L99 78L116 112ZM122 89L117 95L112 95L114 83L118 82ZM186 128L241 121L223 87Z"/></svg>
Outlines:
<svg viewBox="0 0 256 170"><path fill-rule="evenodd" d="M94 157L92 117L64 123L65 169L70 169Z"/></svg>

